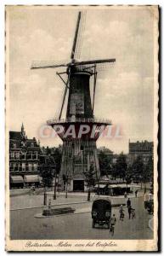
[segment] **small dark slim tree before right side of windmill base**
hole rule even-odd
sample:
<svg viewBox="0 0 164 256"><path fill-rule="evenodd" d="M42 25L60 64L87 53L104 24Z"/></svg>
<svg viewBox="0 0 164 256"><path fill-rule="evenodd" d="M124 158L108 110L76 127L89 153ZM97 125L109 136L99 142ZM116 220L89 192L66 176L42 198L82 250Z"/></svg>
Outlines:
<svg viewBox="0 0 164 256"><path fill-rule="evenodd" d="M88 201L90 201L90 195L91 195L91 187L95 185L95 171L93 168L93 165L91 164L88 172L84 172L85 174L85 182L87 183L87 187L88 187Z"/></svg>

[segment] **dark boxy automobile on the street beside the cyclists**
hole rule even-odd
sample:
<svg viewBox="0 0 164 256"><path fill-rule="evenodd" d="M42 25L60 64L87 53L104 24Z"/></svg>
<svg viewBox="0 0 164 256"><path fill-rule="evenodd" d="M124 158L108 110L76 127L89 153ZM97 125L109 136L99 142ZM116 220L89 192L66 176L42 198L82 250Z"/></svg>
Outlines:
<svg viewBox="0 0 164 256"><path fill-rule="evenodd" d="M110 229L110 217L111 217L111 202L105 198L98 198L93 201L92 218L93 228L95 224L104 225L107 224Z"/></svg>

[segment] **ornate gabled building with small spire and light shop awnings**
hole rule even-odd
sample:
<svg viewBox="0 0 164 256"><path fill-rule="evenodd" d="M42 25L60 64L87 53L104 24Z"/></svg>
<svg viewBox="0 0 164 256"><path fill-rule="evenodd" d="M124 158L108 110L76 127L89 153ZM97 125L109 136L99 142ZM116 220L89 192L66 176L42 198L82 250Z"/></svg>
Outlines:
<svg viewBox="0 0 164 256"><path fill-rule="evenodd" d="M25 135L24 125L21 131L9 131L9 177L10 187L22 187L25 183L39 183L40 154L39 143Z"/></svg>

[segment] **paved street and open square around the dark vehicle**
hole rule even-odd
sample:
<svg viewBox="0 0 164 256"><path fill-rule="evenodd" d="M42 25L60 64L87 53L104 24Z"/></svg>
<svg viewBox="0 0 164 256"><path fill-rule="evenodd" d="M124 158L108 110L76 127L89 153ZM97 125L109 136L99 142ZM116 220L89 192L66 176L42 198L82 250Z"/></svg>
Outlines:
<svg viewBox="0 0 164 256"><path fill-rule="evenodd" d="M52 198L52 195L48 195ZM24 198L24 201L22 200ZM21 198L21 201L20 201ZM50 218L36 218L42 212L42 195L32 195L31 202L25 199L29 195L11 197L11 208L16 209L20 206L34 207L21 210L10 211L10 236L11 239L152 239L153 231L150 230L149 220L152 215L144 210L143 197L132 198L132 207L136 210L136 218L128 219L127 207L124 207L124 221L119 220L119 208L112 208L112 214L116 214L116 228L114 236L110 236L109 230L105 226L92 228L91 207L92 201L87 202L85 196L74 196L65 199L59 195L57 201L52 201L52 205L59 202L68 205L66 207L76 208L75 213L59 215ZM20 205L19 202L20 201ZM83 202L82 202L83 201ZM114 202L117 199L113 199ZM122 198L122 203L126 203ZM35 202L35 204L34 204ZM78 204L72 204L79 202ZM80 203L81 202L81 203ZM17 206L17 207L15 207ZM57 206L59 207L59 206ZM65 207L62 205L60 207Z"/></svg>

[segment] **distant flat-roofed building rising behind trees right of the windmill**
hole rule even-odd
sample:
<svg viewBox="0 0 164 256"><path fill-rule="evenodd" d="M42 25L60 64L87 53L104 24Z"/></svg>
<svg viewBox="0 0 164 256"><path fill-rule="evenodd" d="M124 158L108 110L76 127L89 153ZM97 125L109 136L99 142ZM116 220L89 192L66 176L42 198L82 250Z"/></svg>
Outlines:
<svg viewBox="0 0 164 256"><path fill-rule="evenodd" d="M133 161L137 159L138 156L141 156L144 164L147 164L150 157L153 157L153 142L142 141L137 143L131 143L129 141L129 154L128 154L128 163L129 165L133 164Z"/></svg>

